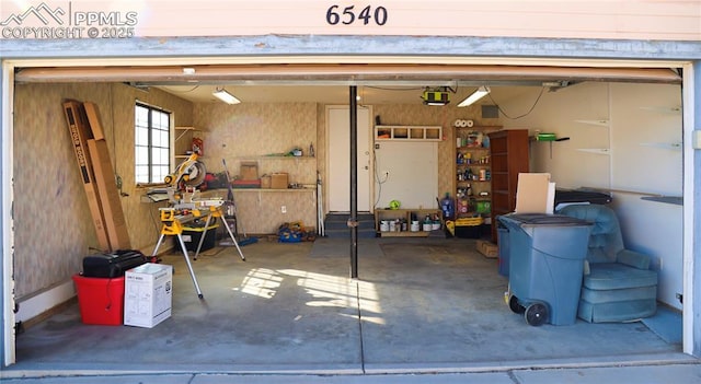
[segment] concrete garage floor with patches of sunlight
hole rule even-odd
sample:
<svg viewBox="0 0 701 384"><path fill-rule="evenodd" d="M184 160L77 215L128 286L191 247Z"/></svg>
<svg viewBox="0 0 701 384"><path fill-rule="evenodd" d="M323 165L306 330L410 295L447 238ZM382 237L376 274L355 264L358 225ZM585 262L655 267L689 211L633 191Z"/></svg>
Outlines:
<svg viewBox="0 0 701 384"><path fill-rule="evenodd" d="M642 323L532 327L504 303L507 279L473 240L261 240L193 261L180 254L172 316L154 328L94 326L78 305L19 335L10 370L398 373L688 361Z"/></svg>

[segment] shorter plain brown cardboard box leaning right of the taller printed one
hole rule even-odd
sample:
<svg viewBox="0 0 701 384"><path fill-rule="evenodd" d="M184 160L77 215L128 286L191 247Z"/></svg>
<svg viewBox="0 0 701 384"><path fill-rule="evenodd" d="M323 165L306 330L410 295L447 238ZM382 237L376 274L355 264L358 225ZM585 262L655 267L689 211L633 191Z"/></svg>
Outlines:
<svg viewBox="0 0 701 384"><path fill-rule="evenodd" d="M110 251L129 249L129 231L124 217L119 190L105 140L88 140L90 159L97 185L97 194L104 216L104 226L110 241Z"/></svg>

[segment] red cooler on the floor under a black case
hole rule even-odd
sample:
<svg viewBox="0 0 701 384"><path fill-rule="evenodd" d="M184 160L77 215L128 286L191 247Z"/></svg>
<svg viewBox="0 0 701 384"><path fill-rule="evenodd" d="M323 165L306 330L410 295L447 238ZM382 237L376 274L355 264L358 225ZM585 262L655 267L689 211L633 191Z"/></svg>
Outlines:
<svg viewBox="0 0 701 384"><path fill-rule="evenodd" d="M73 275L73 281L83 324L124 324L124 276L108 279Z"/></svg>

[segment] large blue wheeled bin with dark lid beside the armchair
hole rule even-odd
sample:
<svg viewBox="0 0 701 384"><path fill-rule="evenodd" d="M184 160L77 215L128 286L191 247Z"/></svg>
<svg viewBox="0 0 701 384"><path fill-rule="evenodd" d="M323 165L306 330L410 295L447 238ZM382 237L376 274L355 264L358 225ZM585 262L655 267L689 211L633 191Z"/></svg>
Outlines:
<svg viewBox="0 0 701 384"><path fill-rule="evenodd" d="M512 213L497 220L508 234L512 311L538 326L576 322L591 223L561 214Z"/></svg>

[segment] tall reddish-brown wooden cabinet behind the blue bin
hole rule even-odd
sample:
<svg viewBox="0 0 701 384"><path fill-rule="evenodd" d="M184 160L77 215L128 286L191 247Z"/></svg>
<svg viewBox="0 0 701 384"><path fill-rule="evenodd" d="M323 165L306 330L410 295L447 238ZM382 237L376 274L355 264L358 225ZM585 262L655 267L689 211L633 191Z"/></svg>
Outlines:
<svg viewBox="0 0 701 384"><path fill-rule="evenodd" d="M489 135L492 171L492 241L496 243L496 217L514 211L518 174L529 172L528 129L505 129Z"/></svg>

